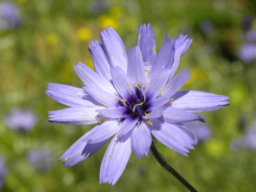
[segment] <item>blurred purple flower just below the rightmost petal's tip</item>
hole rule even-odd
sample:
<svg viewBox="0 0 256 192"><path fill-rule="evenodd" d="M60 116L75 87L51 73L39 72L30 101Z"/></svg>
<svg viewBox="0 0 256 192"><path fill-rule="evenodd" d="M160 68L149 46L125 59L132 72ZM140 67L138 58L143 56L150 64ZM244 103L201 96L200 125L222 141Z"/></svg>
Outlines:
<svg viewBox="0 0 256 192"><path fill-rule="evenodd" d="M212 134L210 127L199 121L184 123L184 125L189 127L189 130L196 136L198 142L208 140Z"/></svg>

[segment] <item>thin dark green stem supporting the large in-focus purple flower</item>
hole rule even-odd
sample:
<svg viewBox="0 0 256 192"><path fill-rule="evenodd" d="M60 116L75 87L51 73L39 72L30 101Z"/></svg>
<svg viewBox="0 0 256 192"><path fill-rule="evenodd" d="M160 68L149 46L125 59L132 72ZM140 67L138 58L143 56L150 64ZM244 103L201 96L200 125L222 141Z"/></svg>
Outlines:
<svg viewBox="0 0 256 192"><path fill-rule="evenodd" d="M156 146L154 145L154 143L152 142L151 146L150 146L150 150L152 152L152 154L154 155L154 157L156 158L156 160L158 161L158 163L166 170L168 171L170 174L172 174L176 179L178 179L188 190L190 190L191 192L198 192L192 185L190 185L178 172L176 172L176 170L174 170L174 168L172 168L170 165L168 165L166 163L166 161L164 160L164 157L162 156L162 154L160 154L156 148Z"/></svg>

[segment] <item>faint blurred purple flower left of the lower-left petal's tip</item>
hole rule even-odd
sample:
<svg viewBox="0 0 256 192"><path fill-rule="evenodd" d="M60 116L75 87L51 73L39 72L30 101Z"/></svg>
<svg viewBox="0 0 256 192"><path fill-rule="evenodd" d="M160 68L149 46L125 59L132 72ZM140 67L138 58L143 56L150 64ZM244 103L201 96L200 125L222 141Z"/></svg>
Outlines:
<svg viewBox="0 0 256 192"><path fill-rule="evenodd" d="M52 168L53 159L52 151L48 148L30 150L27 154L28 162L40 172L46 172Z"/></svg>

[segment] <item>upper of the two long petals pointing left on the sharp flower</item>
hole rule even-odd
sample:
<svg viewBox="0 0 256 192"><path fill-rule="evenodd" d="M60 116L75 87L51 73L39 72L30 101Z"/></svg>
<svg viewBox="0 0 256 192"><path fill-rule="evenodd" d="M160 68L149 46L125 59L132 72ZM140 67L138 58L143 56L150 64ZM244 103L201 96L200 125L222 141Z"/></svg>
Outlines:
<svg viewBox="0 0 256 192"><path fill-rule="evenodd" d="M67 106L95 106L99 103L89 95L85 94L81 88L57 84L48 83L48 90L45 94L50 98L56 100Z"/></svg>

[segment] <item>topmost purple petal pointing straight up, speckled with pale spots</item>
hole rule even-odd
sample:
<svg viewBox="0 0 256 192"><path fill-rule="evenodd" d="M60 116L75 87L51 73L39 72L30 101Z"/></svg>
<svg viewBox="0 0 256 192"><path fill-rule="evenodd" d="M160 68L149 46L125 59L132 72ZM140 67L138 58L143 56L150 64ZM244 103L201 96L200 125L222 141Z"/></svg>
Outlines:
<svg viewBox="0 0 256 192"><path fill-rule="evenodd" d="M152 65L156 57L156 40L150 23L147 26L146 24L139 26L137 46L141 50L146 65Z"/></svg>

